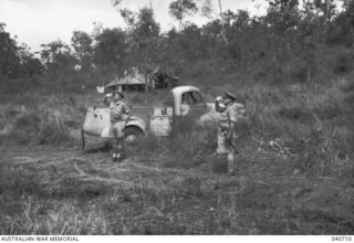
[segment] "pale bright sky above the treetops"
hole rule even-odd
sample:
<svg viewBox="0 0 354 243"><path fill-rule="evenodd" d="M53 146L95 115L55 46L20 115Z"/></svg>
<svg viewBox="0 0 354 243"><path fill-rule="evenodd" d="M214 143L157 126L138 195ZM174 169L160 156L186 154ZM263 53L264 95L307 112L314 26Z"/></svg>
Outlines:
<svg viewBox="0 0 354 243"><path fill-rule="evenodd" d="M169 15L171 0L122 0L121 7L137 11L153 6L155 18L166 31L177 27ZM219 11L218 0L211 0L214 10ZM222 0L222 9L249 10L252 14L263 13L266 0ZM256 8L259 6L259 8ZM190 21L202 24L206 18L194 17ZM124 21L111 0L0 0L0 22L7 24L6 31L18 43L25 43L35 52L40 45L54 40L70 44L73 31L88 33L93 23L100 22L104 28L124 28Z"/></svg>

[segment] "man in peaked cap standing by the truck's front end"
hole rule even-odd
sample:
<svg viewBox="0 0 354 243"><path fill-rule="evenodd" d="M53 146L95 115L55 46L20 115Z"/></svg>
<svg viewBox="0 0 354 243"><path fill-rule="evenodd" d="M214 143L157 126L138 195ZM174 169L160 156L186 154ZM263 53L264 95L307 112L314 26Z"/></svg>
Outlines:
<svg viewBox="0 0 354 243"><path fill-rule="evenodd" d="M246 115L244 105L236 102L236 96L229 92L216 101L217 112L220 113L218 126L218 156L228 157L228 175L232 176L236 170L236 150L233 139L235 125Z"/></svg>

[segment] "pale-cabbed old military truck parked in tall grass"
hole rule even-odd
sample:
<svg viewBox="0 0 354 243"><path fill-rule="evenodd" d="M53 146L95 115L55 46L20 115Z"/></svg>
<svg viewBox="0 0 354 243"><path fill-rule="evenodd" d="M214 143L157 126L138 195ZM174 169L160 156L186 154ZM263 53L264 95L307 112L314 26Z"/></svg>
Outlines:
<svg viewBox="0 0 354 243"><path fill-rule="evenodd" d="M162 107L132 107L132 116L126 120L124 136L127 142L134 142L148 131L156 136L168 136L174 119L191 116L198 123L212 123L218 113L214 103L207 103L199 88L177 86L173 88ZM82 145L85 136L112 138L110 108L94 107L87 109L82 127Z"/></svg>

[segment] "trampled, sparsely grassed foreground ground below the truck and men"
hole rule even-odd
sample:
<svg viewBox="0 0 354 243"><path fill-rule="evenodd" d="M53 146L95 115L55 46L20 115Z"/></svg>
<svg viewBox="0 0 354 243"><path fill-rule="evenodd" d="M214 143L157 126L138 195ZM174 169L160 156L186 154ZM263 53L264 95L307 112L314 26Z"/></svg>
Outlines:
<svg viewBox="0 0 354 243"><path fill-rule="evenodd" d="M270 155L249 158L227 177L210 163L162 167L164 157L113 163L108 152L79 147L8 148L0 162L10 175L2 177L8 182L0 187L0 214L15 224L2 221L0 229L9 234L353 233L353 187L345 180L280 172L287 161Z"/></svg>

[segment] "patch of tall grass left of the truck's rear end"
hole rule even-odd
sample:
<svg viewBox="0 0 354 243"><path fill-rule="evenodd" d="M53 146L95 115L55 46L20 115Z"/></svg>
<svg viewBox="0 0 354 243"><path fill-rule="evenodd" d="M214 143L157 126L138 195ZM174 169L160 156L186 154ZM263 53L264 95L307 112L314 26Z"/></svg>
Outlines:
<svg viewBox="0 0 354 243"><path fill-rule="evenodd" d="M59 145L72 141L71 129L80 128L84 101L67 96L24 93L0 104L0 142Z"/></svg>

